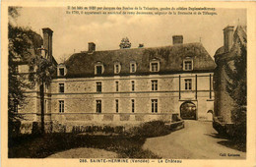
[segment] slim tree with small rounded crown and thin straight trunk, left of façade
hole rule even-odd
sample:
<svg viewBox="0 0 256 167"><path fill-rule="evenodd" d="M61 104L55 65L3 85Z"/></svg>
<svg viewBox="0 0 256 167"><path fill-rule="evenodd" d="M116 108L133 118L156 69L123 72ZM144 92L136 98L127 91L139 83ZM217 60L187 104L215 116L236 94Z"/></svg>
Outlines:
<svg viewBox="0 0 256 167"><path fill-rule="evenodd" d="M42 55L36 55L30 63L29 80L32 86L39 85L40 92L40 110L41 110L41 134L44 134L44 85L48 86L51 82L51 77L55 70L50 60Z"/></svg>

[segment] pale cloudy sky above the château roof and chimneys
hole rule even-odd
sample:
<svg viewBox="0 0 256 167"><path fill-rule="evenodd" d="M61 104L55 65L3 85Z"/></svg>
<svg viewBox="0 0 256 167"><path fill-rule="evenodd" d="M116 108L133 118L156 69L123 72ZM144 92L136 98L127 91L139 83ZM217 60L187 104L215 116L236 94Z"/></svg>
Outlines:
<svg viewBox="0 0 256 167"><path fill-rule="evenodd" d="M218 15L209 16L117 16L67 15L66 8L23 7L17 25L32 28L42 35L41 28L53 30L53 56L58 63L74 52L88 50L88 42L96 43L96 50L119 49L123 37L132 48L139 43L145 47L172 45L172 35L182 34L183 42L199 42L211 56L223 46L223 29L246 25L243 9L216 9Z"/></svg>

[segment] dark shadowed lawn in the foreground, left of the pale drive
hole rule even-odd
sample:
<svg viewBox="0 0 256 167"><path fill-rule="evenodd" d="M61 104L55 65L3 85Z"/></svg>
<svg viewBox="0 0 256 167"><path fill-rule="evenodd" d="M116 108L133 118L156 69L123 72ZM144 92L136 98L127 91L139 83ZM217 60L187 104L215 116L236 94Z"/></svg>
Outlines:
<svg viewBox="0 0 256 167"><path fill-rule="evenodd" d="M113 151L118 158L160 158L142 145L145 138L103 137L74 134L23 135L9 140L9 158L45 158L53 153L78 147Z"/></svg>

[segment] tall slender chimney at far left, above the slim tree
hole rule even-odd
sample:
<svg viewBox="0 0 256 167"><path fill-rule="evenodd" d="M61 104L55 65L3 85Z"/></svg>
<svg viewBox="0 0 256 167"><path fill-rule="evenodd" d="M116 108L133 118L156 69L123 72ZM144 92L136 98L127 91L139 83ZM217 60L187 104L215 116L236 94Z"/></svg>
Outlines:
<svg viewBox="0 0 256 167"><path fill-rule="evenodd" d="M43 48L46 49L46 58L52 60L52 30L50 28L42 28L43 32Z"/></svg>

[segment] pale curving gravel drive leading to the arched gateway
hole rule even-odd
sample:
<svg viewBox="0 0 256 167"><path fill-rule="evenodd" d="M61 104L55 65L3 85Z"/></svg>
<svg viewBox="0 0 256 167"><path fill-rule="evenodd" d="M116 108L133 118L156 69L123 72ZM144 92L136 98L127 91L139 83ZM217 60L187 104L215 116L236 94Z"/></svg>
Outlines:
<svg viewBox="0 0 256 167"><path fill-rule="evenodd" d="M184 129L164 137L147 139L143 148L153 151L162 158L172 159L240 159L246 157L245 152L231 148L228 143L227 139L218 136L212 127L212 122L187 120Z"/></svg>

